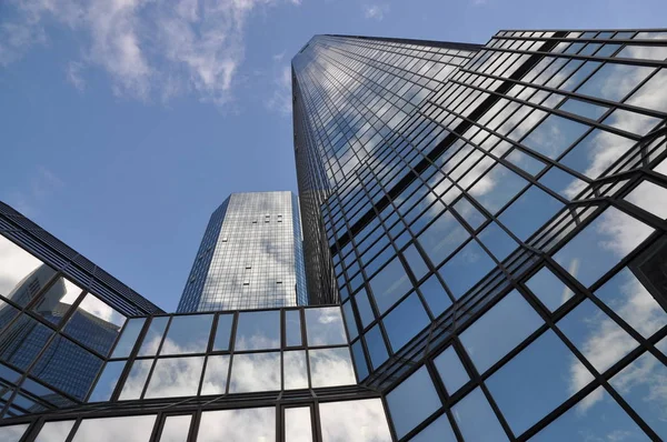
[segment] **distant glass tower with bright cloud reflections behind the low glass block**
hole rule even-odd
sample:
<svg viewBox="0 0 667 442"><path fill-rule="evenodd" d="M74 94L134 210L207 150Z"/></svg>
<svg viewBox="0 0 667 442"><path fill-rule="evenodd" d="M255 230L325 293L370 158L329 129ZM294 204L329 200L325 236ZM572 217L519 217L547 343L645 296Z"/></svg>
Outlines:
<svg viewBox="0 0 667 442"><path fill-rule="evenodd" d="M232 193L211 215L178 312L307 302L297 197Z"/></svg>

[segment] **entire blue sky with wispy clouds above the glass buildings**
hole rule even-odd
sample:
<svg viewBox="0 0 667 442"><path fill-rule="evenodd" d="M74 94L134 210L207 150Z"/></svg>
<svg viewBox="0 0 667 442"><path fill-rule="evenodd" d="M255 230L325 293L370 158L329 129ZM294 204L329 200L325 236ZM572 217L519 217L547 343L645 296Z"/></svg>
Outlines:
<svg viewBox="0 0 667 442"><path fill-rule="evenodd" d="M486 42L664 26L660 1L0 2L0 199L167 311L210 213L292 190L289 60L315 33Z"/></svg>

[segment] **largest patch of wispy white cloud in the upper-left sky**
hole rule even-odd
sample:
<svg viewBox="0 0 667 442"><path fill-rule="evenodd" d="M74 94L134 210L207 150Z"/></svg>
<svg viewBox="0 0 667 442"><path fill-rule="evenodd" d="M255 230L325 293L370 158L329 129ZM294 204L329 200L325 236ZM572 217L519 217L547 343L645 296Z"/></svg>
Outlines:
<svg viewBox="0 0 667 442"><path fill-rule="evenodd" d="M195 92L225 103L245 58L252 11L296 0L9 0L0 19L0 64L48 42L49 23L63 24L82 46L66 76L77 89L83 67L103 69L117 96L162 100Z"/></svg>

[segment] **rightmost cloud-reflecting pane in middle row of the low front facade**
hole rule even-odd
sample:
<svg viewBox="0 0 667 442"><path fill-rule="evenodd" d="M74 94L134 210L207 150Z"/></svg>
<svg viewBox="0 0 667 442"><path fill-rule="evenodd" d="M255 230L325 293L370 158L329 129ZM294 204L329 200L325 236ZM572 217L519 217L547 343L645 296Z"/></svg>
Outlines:
<svg viewBox="0 0 667 442"><path fill-rule="evenodd" d="M338 349L309 350L312 388L351 385L357 383L350 351Z"/></svg>

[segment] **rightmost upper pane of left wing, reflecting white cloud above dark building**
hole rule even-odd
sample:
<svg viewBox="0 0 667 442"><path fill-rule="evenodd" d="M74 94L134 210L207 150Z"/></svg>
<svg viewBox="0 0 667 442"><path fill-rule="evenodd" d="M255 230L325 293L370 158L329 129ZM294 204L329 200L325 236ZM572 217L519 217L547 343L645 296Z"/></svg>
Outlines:
<svg viewBox="0 0 667 442"><path fill-rule="evenodd" d="M70 318L64 331L92 350L107 355L125 321L122 314L88 293Z"/></svg>

